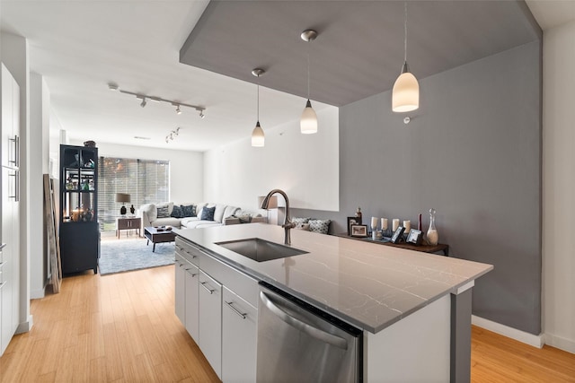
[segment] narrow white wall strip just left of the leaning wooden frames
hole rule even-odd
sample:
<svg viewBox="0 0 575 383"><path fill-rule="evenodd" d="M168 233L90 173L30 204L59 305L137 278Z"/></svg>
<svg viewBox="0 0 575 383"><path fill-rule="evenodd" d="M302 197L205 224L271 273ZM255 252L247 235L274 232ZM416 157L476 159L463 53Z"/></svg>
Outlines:
<svg viewBox="0 0 575 383"><path fill-rule="evenodd" d="M36 219L30 222L31 232L38 233L44 240L32 240L30 248L30 297L42 298L47 284L49 254L44 214L44 185L42 174L49 168L49 91L40 74L30 75L30 210L36 212ZM41 235L40 235L41 234Z"/></svg>

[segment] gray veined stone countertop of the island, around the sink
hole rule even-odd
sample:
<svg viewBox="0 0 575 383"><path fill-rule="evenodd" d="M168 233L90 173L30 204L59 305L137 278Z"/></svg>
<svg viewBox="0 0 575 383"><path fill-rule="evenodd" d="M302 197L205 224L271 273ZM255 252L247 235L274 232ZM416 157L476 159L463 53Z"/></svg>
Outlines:
<svg viewBox="0 0 575 383"><path fill-rule="evenodd" d="M261 238L283 244L280 226L244 223L174 232L226 264L372 333L456 292L493 268L298 230L291 231L291 247L308 254L256 262L215 242Z"/></svg>

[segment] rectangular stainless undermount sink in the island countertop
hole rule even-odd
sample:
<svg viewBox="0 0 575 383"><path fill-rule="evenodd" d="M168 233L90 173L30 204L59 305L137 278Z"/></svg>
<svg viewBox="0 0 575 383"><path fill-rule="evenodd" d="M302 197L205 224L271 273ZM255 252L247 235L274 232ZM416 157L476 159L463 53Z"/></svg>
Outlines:
<svg viewBox="0 0 575 383"><path fill-rule="evenodd" d="M229 240L226 242L217 242L216 245L232 250L235 253L241 254L243 257L248 257L257 262L307 254L307 251L289 248L288 246L279 245L278 243L259 238Z"/></svg>

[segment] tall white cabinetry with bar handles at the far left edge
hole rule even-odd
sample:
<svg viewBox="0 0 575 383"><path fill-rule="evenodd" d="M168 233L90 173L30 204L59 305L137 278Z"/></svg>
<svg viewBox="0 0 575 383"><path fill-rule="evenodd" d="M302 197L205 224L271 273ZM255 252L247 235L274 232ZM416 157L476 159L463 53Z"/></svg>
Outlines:
<svg viewBox="0 0 575 383"><path fill-rule="evenodd" d="M0 253L0 355L19 323L20 302L20 88L2 66L2 243Z"/></svg>

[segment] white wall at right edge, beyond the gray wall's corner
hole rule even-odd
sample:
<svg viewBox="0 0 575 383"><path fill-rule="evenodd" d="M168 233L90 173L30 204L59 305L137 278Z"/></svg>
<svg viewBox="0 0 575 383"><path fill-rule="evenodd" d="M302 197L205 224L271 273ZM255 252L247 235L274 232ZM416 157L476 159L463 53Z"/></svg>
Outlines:
<svg viewBox="0 0 575 383"><path fill-rule="evenodd" d="M545 343L575 353L575 22L544 30Z"/></svg>

